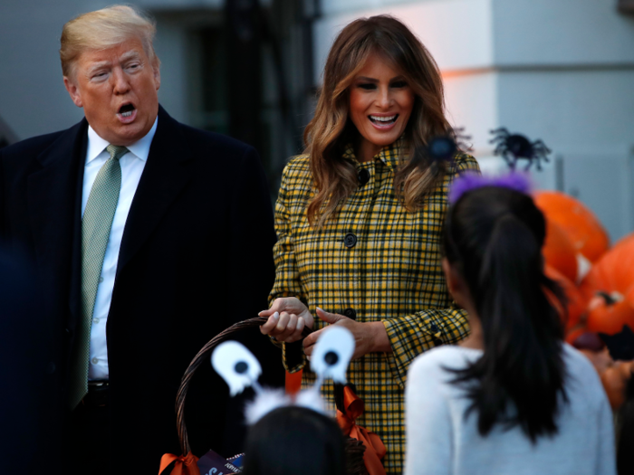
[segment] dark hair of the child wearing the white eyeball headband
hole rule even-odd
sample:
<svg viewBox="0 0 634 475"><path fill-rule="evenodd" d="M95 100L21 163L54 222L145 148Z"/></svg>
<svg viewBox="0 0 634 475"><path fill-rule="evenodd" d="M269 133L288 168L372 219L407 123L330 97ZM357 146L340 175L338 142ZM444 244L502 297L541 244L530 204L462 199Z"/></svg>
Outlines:
<svg viewBox="0 0 634 475"><path fill-rule="evenodd" d="M343 433L334 420L287 406L249 429L243 475L343 475L345 463Z"/></svg>

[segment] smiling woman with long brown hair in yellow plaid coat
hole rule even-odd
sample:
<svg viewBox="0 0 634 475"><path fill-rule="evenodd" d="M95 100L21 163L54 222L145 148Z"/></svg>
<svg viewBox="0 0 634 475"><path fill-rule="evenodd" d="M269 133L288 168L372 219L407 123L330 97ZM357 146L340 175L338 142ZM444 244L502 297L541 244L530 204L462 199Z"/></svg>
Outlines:
<svg viewBox="0 0 634 475"><path fill-rule="evenodd" d="M451 134L440 73L416 36L390 16L356 20L332 45L305 154L284 168L275 206L276 279L262 332L283 342L293 372L319 337L301 342L304 326L351 330L349 381L365 402L357 423L385 443L388 473L403 465L409 363L468 332L440 268L440 232L447 186L477 164L458 153L430 166L415 153ZM332 400L332 385L323 392Z"/></svg>

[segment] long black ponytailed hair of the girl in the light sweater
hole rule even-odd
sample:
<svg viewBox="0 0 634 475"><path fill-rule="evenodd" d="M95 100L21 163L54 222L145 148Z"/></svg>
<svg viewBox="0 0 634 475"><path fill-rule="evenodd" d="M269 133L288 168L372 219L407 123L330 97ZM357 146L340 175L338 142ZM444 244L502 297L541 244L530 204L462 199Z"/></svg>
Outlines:
<svg viewBox="0 0 634 475"><path fill-rule="evenodd" d="M484 355L453 370L484 436L520 425L535 442L557 432L565 370L560 317L544 291L565 301L543 273L542 212L529 195L500 186L467 192L447 214L447 260L466 282L484 336ZM477 384L472 384L473 382ZM465 383L467 383L465 385Z"/></svg>

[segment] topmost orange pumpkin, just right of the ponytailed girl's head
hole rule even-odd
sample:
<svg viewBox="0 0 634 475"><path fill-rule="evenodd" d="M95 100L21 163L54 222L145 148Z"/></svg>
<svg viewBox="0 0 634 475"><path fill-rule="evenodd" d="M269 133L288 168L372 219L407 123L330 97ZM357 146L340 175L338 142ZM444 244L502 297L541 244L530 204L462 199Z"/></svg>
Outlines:
<svg viewBox="0 0 634 475"><path fill-rule="evenodd" d="M597 261L608 250L608 233L581 201L556 191L538 192L534 200L546 219L558 224L568 234L575 251L589 261Z"/></svg>

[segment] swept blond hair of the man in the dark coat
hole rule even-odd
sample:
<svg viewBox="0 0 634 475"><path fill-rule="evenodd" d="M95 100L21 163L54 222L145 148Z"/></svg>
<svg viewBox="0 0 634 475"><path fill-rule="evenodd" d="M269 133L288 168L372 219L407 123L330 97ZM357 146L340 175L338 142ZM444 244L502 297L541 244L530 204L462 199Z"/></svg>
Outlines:
<svg viewBox="0 0 634 475"><path fill-rule="evenodd" d="M82 52L110 48L135 37L139 38L150 63L158 67L159 58L152 46L156 31L156 22L148 14L129 5L111 5L81 14L63 25L60 38L63 75L72 77Z"/></svg>

